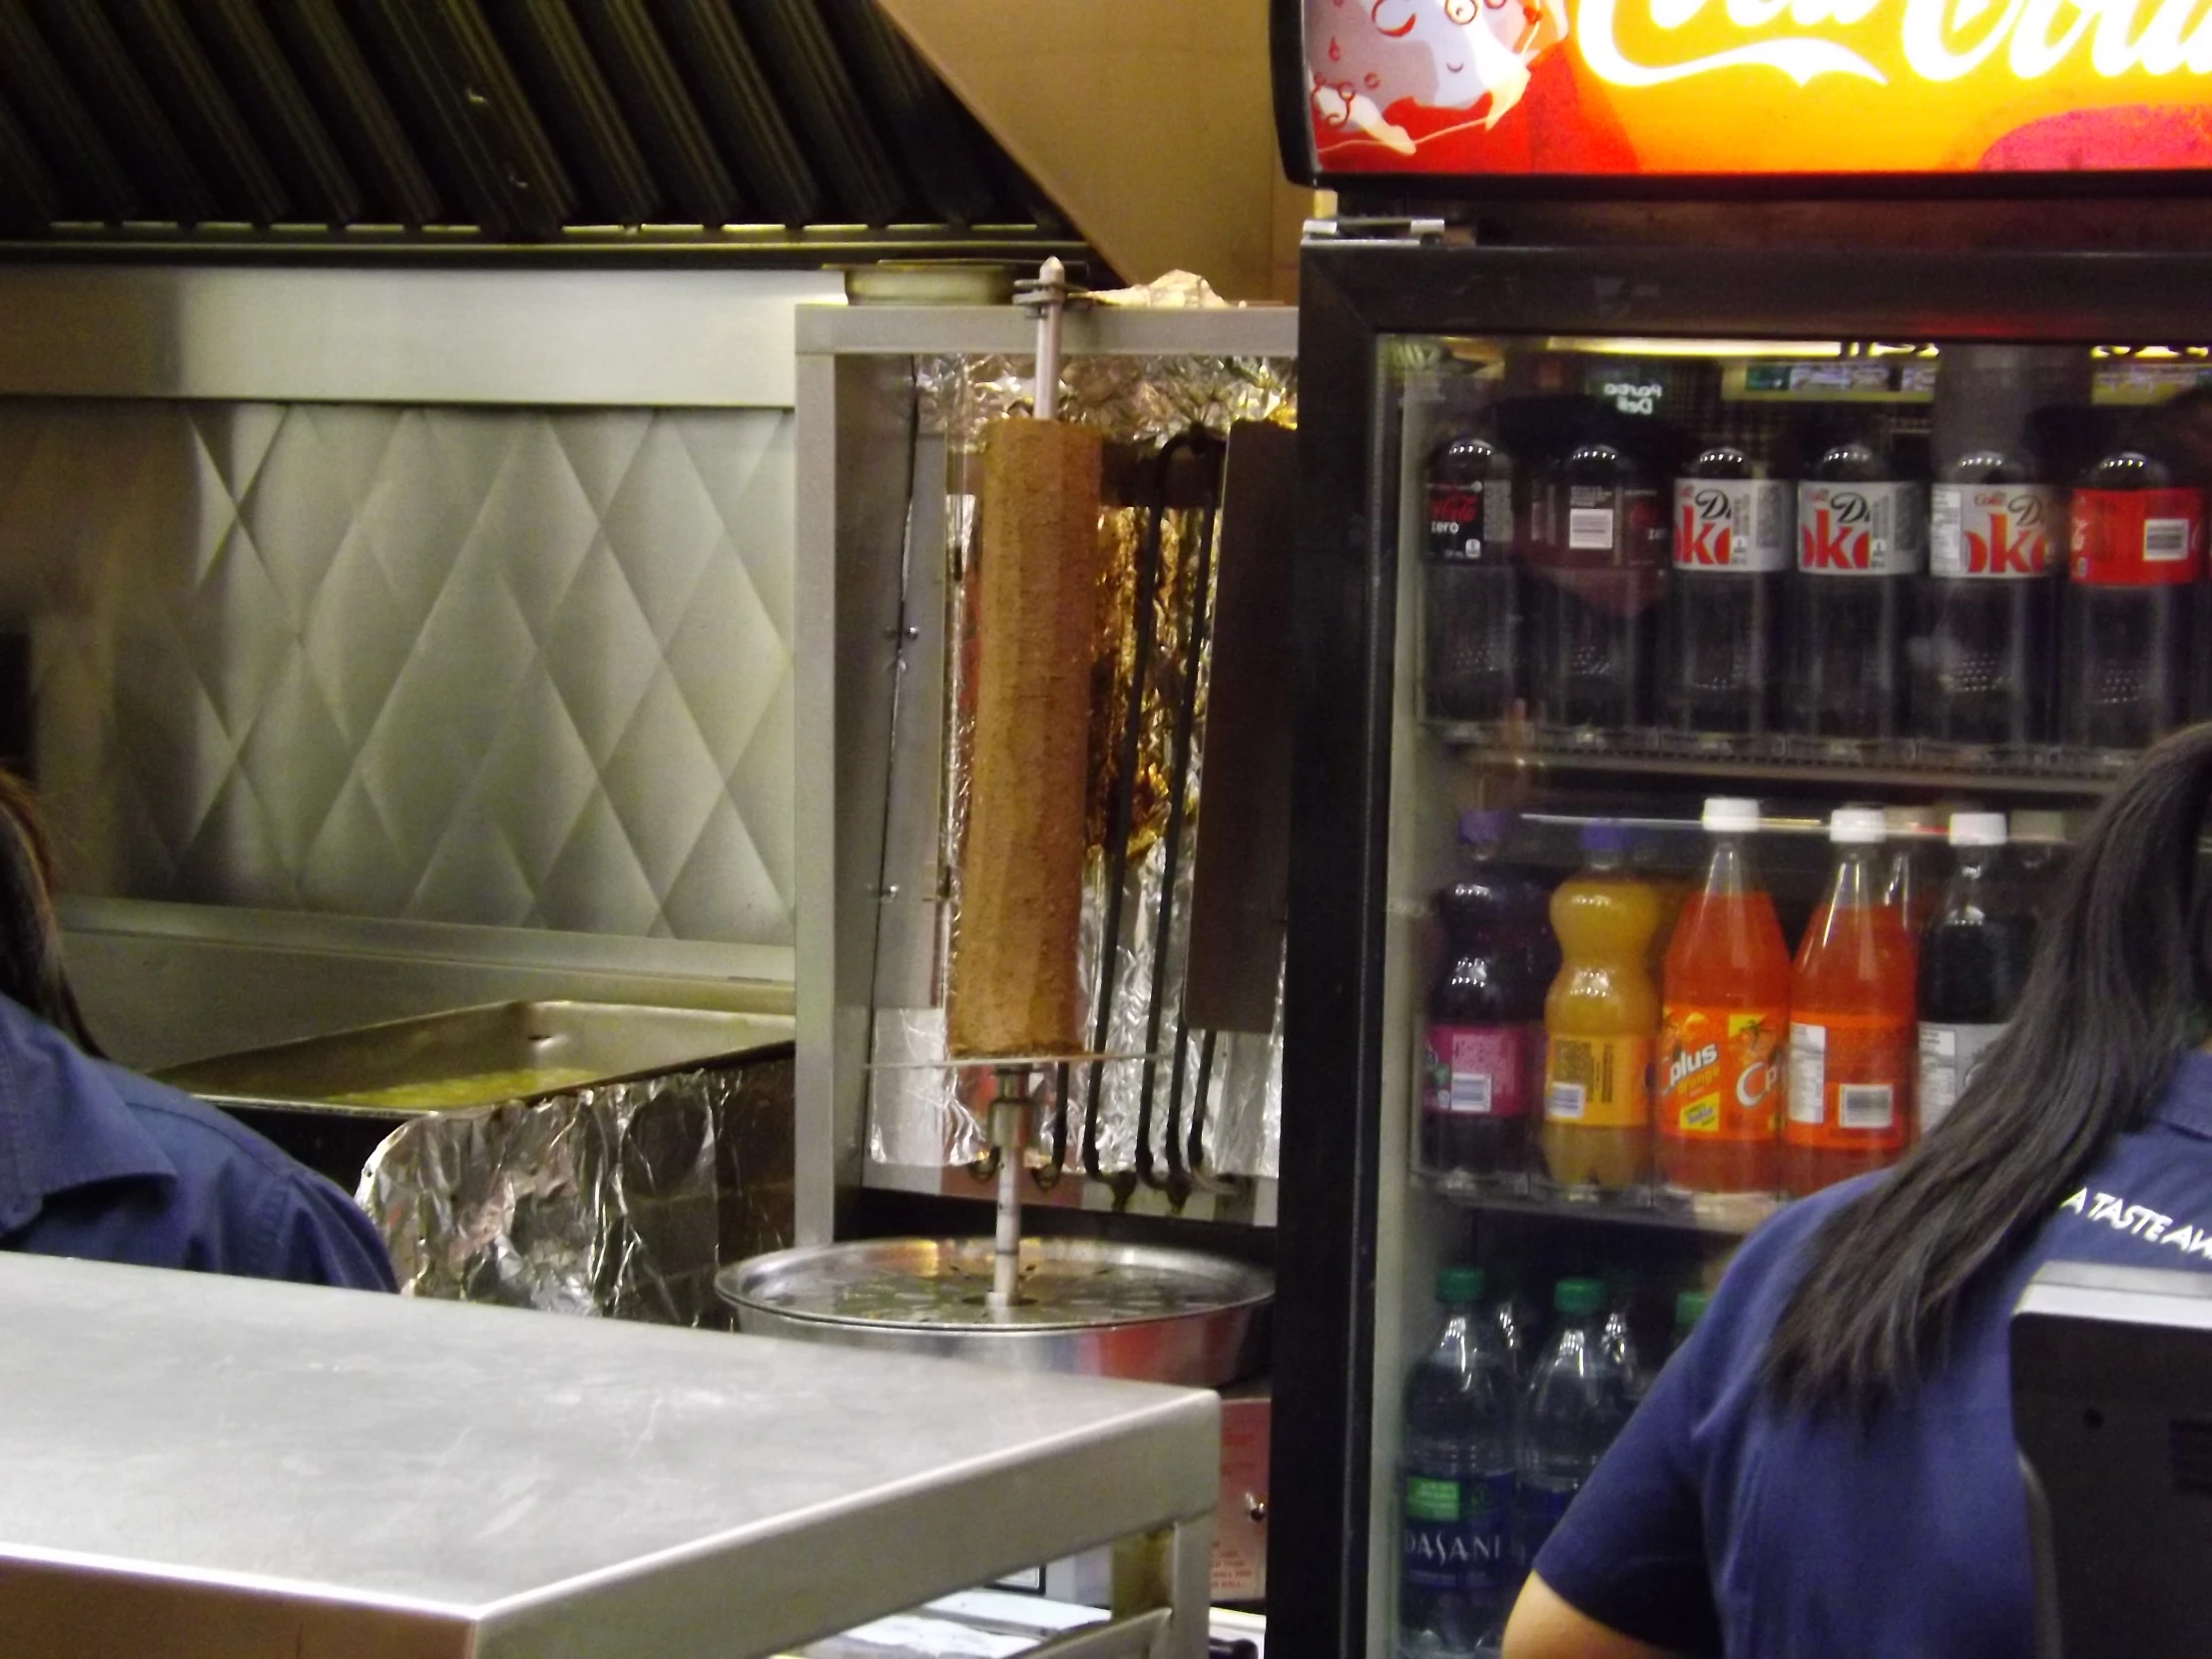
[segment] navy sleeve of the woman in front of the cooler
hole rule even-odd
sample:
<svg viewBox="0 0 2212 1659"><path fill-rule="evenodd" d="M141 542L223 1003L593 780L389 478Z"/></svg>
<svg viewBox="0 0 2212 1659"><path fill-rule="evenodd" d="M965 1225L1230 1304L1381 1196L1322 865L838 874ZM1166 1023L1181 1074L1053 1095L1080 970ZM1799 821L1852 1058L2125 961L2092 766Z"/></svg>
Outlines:
<svg viewBox="0 0 2212 1659"><path fill-rule="evenodd" d="M1568 1504L1535 1573L1577 1613L1668 1652L1721 1652L1692 1467L1699 1338L1652 1383Z"/></svg>

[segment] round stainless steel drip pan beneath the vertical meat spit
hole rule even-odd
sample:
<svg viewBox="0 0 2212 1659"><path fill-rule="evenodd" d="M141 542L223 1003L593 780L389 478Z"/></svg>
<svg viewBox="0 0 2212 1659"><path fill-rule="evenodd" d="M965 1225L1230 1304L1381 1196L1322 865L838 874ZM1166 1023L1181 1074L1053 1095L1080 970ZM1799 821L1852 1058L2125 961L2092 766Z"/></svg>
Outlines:
<svg viewBox="0 0 2212 1659"><path fill-rule="evenodd" d="M1020 1371L1225 1387L1265 1358L1272 1274L1194 1250L1024 1239L1022 1303L984 1307L989 1239L858 1239L723 1267L739 1329Z"/></svg>

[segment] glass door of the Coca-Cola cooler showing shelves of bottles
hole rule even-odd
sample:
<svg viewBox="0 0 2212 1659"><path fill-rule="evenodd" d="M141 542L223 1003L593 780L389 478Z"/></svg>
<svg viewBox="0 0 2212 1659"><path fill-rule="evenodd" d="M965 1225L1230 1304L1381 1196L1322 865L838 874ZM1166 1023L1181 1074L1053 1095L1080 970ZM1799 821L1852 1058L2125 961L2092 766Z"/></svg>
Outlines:
<svg viewBox="0 0 2212 1659"><path fill-rule="evenodd" d="M1750 1228L1955 1102L2068 836L2205 712L2212 354L1374 349L1396 557L1367 1646L1451 1655L1544 1520L1520 1504L1495 1577L1462 1524L1447 1606L1433 1455L1407 1460L1438 1427L1402 1394L1438 1270L1486 1270L1475 1318L1520 1387L1555 1332L1606 1327L1626 1409ZM1871 810L1865 845L1832 843L1838 807ZM1708 896L1721 841L1747 876ZM1869 902L1827 914L1838 863ZM1929 931L1960 883L1986 922L1964 942ZM1517 1433L1526 1458L1544 1431Z"/></svg>

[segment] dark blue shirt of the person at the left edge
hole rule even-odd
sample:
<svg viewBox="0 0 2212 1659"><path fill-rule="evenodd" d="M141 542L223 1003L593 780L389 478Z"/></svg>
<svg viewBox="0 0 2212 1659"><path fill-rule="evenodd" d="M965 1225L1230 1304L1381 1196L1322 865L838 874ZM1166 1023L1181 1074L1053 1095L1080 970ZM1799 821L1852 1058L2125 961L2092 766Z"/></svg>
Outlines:
<svg viewBox="0 0 2212 1659"><path fill-rule="evenodd" d="M7 998L0 1250L394 1287L376 1228L321 1175Z"/></svg>

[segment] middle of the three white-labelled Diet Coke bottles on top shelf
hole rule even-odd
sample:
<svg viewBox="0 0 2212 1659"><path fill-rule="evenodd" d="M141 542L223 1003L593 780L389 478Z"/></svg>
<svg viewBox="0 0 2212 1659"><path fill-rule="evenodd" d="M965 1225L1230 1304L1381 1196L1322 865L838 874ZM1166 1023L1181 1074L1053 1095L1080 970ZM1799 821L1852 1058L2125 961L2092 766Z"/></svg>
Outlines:
<svg viewBox="0 0 2212 1659"><path fill-rule="evenodd" d="M1927 507L1871 422L1834 431L1798 484L1792 723L1896 737Z"/></svg>

